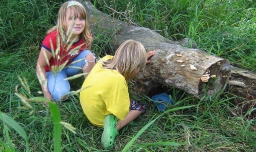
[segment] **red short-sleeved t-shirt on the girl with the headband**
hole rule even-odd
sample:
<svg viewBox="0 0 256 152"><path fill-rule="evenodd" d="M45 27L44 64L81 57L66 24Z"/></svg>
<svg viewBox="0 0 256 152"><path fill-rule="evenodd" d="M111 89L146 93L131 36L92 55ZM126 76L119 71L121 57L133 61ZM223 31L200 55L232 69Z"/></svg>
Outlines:
<svg viewBox="0 0 256 152"><path fill-rule="evenodd" d="M44 47L46 50L52 52L52 49L51 49L52 48L51 42L52 42L53 51L55 53L56 49L57 49L57 38L58 38L57 35L58 35L57 31L53 31L53 32L49 33L48 35L46 35L42 42L42 47ZM61 41L61 39L60 39L60 41ZM77 47L83 43L84 43L84 45L82 45L82 47L79 48L78 52L73 53L73 54L68 54L72 49L74 49L75 47ZM53 65L60 66L68 60L68 63L66 64L66 66L67 66L69 63L71 63L73 61L73 59L78 54L80 54L80 52L82 52L86 48L86 44L85 44L84 40L80 38L77 42L74 42L72 44L72 46L69 48L69 50L67 50L67 47L68 47L68 44L64 48L60 47L60 51L59 51L58 55L55 56L55 59L52 57L49 60L50 66L46 65L46 67L45 67L46 72L51 71L51 67Z"/></svg>

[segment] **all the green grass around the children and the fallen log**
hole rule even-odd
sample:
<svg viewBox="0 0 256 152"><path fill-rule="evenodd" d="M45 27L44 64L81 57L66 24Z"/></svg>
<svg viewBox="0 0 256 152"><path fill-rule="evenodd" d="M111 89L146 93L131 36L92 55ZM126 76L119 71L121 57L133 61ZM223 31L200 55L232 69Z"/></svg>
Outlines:
<svg viewBox="0 0 256 152"><path fill-rule="evenodd" d="M102 129L85 118L76 94L68 102L50 104L50 108L35 98L42 96L35 74L40 44L46 30L55 24L61 2L0 2L0 151L48 152L58 151L58 147L70 152L103 151ZM106 3L166 38L189 37L210 54L227 58L241 68L256 70L253 1L108 0ZM101 11L112 13L104 1L94 4ZM125 19L118 13L113 16ZM102 46L108 47L95 38L92 50L102 54ZM72 90L79 89L82 82L83 78L71 80ZM120 131L113 151L255 151L256 123L246 117L251 111L244 116L236 113L228 93L206 101L175 88L168 88L168 93L175 104L165 113L159 112L147 96L132 94L147 105L147 112L125 132ZM29 102L31 107L17 95L33 99ZM60 125L60 120L76 130L65 123Z"/></svg>

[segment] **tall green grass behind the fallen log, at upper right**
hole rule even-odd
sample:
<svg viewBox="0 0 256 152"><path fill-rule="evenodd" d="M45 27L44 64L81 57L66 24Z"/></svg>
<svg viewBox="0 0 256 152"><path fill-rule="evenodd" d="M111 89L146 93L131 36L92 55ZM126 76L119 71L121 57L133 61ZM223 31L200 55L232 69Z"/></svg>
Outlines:
<svg viewBox="0 0 256 152"><path fill-rule="evenodd" d="M111 13L97 1L101 11ZM253 1L106 0L109 7L126 14L140 26L156 30L171 40L188 37L198 48L227 58L241 68L255 71L256 4ZM119 14L115 18L125 19Z"/></svg>

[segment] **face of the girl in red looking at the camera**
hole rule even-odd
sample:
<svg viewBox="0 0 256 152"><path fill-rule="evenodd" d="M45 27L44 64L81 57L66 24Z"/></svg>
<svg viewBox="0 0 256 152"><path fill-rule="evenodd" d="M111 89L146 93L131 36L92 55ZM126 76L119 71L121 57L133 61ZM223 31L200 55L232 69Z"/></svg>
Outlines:
<svg viewBox="0 0 256 152"><path fill-rule="evenodd" d="M71 25L73 18L74 18L74 21L73 21L73 24ZM67 25L67 30L69 28L72 28L71 40L73 40L76 36L78 36L78 38L79 38L79 35L84 31L85 19L83 17L81 17L81 15L79 15L79 14L77 16L73 10L68 8L67 12L66 12L66 25Z"/></svg>

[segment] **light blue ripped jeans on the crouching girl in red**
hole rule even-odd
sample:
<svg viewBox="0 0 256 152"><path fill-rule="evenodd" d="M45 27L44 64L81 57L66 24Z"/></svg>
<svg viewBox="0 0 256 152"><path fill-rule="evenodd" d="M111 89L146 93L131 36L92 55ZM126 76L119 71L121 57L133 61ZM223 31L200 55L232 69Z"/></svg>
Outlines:
<svg viewBox="0 0 256 152"><path fill-rule="evenodd" d="M85 59L88 54L92 54L92 52L90 50L82 51L66 68L57 74L53 74L52 71L46 72L48 90L55 101L60 101L64 96L70 94L70 84L68 80L64 79L82 72L82 68L88 62L95 62L95 60L87 61Z"/></svg>

